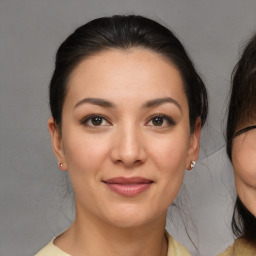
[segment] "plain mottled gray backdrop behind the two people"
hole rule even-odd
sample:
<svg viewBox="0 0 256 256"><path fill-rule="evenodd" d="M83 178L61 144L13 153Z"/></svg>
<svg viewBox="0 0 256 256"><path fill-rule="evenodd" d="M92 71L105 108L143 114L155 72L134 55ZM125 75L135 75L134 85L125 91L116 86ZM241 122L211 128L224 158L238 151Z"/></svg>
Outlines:
<svg viewBox="0 0 256 256"><path fill-rule="evenodd" d="M216 255L233 240L233 176L223 148L223 127L231 71L239 49L256 29L256 1L1 0L1 256L33 255L74 217L47 131L54 55L77 26L120 13L146 15L167 25L203 75L209 121L200 161L186 174L180 197L197 227L196 232L187 224L200 255ZM175 210L171 212L169 231L196 255Z"/></svg>

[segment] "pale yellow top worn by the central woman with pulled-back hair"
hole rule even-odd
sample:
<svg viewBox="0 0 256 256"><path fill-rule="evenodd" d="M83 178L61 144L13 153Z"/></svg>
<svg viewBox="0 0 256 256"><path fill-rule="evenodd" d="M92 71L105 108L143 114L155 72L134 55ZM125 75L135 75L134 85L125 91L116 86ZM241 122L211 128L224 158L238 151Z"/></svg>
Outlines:
<svg viewBox="0 0 256 256"><path fill-rule="evenodd" d="M167 256L191 256L191 254L187 251L185 247L183 247L180 243L175 241L168 233L168 253ZM40 252L38 252L35 256L71 256L57 246L53 244L53 240L46 245Z"/></svg>

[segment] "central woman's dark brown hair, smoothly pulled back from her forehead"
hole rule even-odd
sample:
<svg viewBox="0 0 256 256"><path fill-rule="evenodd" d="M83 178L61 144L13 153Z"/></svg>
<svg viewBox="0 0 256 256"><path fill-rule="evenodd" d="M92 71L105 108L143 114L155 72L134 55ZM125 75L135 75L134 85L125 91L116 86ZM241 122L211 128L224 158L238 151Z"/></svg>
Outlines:
<svg viewBox="0 0 256 256"><path fill-rule="evenodd" d="M108 49L132 47L149 49L170 60L179 70L189 104L190 127L196 119L205 123L208 101L204 83L177 37L166 27L142 16L112 16L90 21L79 27L59 47L50 83L50 107L61 127L62 107L68 78L86 57Z"/></svg>

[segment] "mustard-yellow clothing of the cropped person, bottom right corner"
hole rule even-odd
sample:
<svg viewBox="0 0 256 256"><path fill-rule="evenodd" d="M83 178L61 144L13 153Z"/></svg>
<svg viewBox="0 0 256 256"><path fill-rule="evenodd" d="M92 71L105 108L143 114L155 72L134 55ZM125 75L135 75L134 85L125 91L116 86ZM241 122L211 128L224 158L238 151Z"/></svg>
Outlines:
<svg viewBox="0 0 256 256"><path fill-rule="evenodd" d="M243 239L238 238L232 246L218 256L256 256L256 247L252 247Z"/></svg>

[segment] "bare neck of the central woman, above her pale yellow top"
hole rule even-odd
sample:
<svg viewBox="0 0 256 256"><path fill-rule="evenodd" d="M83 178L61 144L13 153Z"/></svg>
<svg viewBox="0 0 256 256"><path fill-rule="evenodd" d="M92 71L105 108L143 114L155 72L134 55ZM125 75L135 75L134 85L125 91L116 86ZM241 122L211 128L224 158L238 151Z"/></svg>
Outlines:
<svg viewBox="0 0 256 256"><path fill-rule="evenodd" d="M71 255L166 256L165 218L136 227L117 227L77 211L71 227L55 245Z"/></svg>

